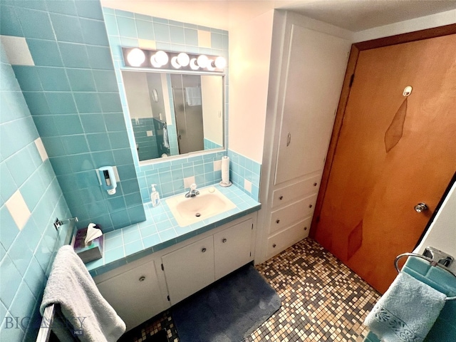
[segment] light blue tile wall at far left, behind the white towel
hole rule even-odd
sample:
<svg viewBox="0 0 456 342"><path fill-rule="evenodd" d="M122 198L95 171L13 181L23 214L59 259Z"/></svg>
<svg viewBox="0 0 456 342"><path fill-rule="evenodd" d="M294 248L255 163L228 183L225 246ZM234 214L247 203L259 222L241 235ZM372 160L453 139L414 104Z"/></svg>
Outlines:
<svg viewBox="0 0 456 342"><path fill-rule="evenodd" d="M0 79L0 339L35 341L46 271L65 235L66 226L56 232L53 220L71 212L51 162L38 152L38 131L1 43ZM13 213L7 204L18 192L26 208ZM28 217L24 227L14 220L18 214Z"/></svg>

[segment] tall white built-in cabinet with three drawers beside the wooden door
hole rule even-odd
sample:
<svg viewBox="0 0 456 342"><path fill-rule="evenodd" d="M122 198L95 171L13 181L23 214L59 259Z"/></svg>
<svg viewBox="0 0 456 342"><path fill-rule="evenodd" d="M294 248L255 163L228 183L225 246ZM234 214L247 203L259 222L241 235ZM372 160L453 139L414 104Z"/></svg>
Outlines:
<svg viewBox="0 0 456 342"><path fill-rule="evenodd" d="M335 26L274 12L257 263L309 234L350 48Z"/></svg>

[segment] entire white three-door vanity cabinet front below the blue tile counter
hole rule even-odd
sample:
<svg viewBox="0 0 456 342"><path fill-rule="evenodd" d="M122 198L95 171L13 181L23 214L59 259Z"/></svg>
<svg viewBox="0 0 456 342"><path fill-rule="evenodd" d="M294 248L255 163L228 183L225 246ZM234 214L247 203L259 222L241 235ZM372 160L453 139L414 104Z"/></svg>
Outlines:
<svg viewBox="0 0 456 342"><path fill-rule="evenodd" d="M252 261L256 219L256 212L235 219L95 276L95 283L130 330Z"/></svg>

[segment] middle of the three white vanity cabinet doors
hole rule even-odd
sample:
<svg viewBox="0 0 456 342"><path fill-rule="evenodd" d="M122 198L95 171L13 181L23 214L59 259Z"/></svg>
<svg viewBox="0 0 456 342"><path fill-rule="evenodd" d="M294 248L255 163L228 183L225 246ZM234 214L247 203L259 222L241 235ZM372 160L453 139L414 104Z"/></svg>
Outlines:
<svg viewBox="0 0 456 342"><path fill-rule="evenodd" d="M171 304L214 282L214 241L199 240L162 257Z"/></svg>

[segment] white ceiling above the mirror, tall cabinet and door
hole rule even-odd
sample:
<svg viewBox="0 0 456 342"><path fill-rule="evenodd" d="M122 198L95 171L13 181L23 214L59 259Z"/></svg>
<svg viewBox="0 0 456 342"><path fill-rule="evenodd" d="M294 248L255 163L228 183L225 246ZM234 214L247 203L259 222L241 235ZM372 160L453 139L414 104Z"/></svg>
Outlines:
<svg viewBox="0 0 456 342"><path fill-rule="evenodd" d="M101 4L226 30L243 17L288 9L353 32L456 9L456 0L101 0Z"/></svg>

